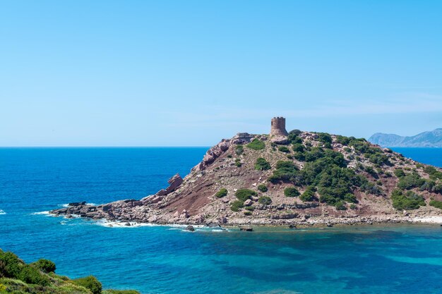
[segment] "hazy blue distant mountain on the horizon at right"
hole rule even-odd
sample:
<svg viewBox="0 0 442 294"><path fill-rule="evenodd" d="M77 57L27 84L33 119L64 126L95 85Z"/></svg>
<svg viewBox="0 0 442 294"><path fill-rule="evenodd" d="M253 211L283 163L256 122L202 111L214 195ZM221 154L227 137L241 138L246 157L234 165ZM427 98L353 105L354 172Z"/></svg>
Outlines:
<svg viewBox="0 0 442 294"><path fill-rule="evenodd" d="M410 137L376 133L369 137L369 141L383 147L442 147L442 128Z"/></svg>

